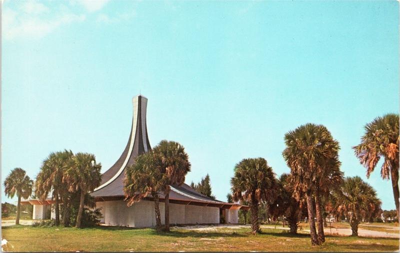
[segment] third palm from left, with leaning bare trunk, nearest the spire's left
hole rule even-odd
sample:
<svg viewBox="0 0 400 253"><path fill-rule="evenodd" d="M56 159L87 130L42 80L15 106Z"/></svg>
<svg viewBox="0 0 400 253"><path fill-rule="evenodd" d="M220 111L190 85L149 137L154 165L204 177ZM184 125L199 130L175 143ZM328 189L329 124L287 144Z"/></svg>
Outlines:
<svg viewBox="0 0 400 253"><path fill-rule="evenodd" d="M95 156L88 153L77 153L72 158L72 165L66 170L63 182L69 192L80 191L79 209L76 217L76 228L80 228L84 196L93 191L101 182L101 164L96 163Z"/></svg>

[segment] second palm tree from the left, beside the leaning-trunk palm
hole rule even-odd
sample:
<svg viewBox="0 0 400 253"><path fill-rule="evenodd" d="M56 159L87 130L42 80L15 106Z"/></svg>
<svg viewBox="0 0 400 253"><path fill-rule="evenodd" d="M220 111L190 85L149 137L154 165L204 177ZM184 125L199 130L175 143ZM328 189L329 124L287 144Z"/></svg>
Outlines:
<svg viewBox="0 0 400 253"><path fill-rule="evenodd" d="M59 225L59 199L65 205L63 196L66 189L65 184L62 183L65 170L70 165L70 160L73 156L72 151L64 150L50 155L44 159L40 172L36 176L35 193L41 200L45 200L49 192L52 191L52 198L55 199L55 225ZM66 223L64 208L64 225Z"/></svg>

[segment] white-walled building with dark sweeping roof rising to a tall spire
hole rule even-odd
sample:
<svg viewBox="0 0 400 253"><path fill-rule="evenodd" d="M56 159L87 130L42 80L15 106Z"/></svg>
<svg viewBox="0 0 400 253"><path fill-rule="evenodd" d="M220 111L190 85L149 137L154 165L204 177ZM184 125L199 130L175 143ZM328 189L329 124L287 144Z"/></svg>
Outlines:
<svg viewBox="0 0 400 253"><path fill-rule="evenodd" d="M147 98L139 95L133 98L133 118L128 142L119 159L102 174L102 181L90 195L96 207L101 208L101 223L128 227L154 227L155 213L152 198L148 197L127 207L123 201L123 178L125 168L134 163L135 157L151 149L146 125ZM170 224L216 224L219 216L226 223L238 222L238 210L247 207L225 203L204 196L188 185L171 185L169 194ZM164 223L164 195L160 193L161 223ZM45 219L45 213L53 201L37 199L22 202L33 205L33 219ZM51 214L51 218L54 214Z"/></svg>

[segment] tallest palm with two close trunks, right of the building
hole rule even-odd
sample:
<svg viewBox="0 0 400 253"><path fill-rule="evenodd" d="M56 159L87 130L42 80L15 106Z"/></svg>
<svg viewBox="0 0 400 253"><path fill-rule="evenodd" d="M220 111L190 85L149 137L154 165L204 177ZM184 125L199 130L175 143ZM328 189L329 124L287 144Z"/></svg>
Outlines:
<svg viewBox="0 0 400 253"><path fill-rule="evenodd" d="M316 234L312 199L318 182L324 176L323 170L327 163L337 157L338 142L332 138L326 127L310 123L286 133L284 141L286 148L282 155L292 175L293 194L299 200L305 193L311 245L320 245L322 242ZM321 217L321 210L316 211L319 213L318 217ZM323 238L323 225L319 234Z"/></svg>

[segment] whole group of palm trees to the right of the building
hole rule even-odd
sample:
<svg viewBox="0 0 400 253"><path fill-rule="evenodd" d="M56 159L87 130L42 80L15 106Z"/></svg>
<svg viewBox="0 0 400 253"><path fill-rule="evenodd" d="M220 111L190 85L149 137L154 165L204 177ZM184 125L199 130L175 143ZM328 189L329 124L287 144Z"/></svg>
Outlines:
<svg viewBox="0 0 400 253"><path fill-rule="evenodd" d="M367 169L366 176L380 158L383 179L391 178L396 215L398 217L398 114L377 117L364 127L361 143L353 147L355 156ZM381 201L375 190L360 177L343 177L338 159L339 143L323 125L305 124L284 136L282 156L290 168L279 179L264 158L241 160L231 178L231 195L227 199L248 204L251 232L260 233L259 206L267 206L273 218L283 216L290 233L296 233L302 216L307 217L312 245L325 241L323 233L326 212L345 217L352 235L357 236L362 219L371 220L381 214ZM244 215L245 212L244 212Z"/></svg>

